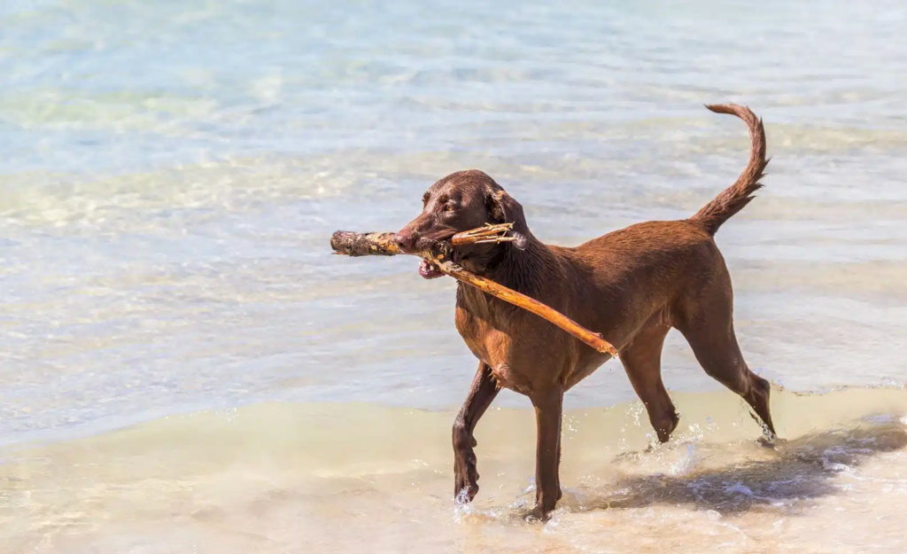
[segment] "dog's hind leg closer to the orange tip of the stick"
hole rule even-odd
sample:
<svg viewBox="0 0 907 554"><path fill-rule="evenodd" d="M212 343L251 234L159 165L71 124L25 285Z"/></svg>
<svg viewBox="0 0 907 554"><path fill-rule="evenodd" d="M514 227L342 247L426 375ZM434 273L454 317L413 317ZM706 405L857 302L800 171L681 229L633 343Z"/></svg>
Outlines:
<svg viewBox="0 0 907 554"><path fill-rule="evenodd" d="M620 362L633 390L649 411L649 421L661 442L668 442L679 421L674 403L661 381L661 347L669 330L668 325L651 325L639 331L629 346L620 351Z"/></svg>

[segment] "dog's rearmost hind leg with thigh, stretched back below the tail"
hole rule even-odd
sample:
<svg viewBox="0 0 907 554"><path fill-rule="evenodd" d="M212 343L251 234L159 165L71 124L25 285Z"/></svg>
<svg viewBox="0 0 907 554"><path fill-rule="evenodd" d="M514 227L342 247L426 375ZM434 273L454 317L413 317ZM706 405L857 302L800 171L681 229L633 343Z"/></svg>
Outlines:
<svg viewBox="0 0 907 554"><path fill-rule="evenodd" d="M746 366L734 333L734 293L727 270L688 300L677 315L676 326L689 342L702 369L739 394L761 420L768 439L775 438L769 410L771 385Z"/></svg>

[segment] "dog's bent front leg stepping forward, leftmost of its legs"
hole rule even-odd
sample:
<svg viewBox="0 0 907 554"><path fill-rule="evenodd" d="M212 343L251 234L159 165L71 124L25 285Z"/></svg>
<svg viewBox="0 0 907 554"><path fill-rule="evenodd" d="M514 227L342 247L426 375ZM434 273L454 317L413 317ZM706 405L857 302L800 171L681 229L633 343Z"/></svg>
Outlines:
<svg viewBox="0 0 907 554"><path fill-rule="evenodd" d="M465 494L464 500L472 501L479 491L479 473L475 469L476 440L473 438L475 424L492 405L498 395L498 385L492 377L492 369L479 362L469 395L463 408L453 420L453 499Z"/></svg>

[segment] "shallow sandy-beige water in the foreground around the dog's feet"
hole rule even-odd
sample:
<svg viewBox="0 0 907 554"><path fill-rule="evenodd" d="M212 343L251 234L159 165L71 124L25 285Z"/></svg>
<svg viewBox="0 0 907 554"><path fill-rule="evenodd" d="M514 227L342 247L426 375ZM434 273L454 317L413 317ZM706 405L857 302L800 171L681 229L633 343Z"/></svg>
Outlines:
<svg viewBox="0 0 907 554"><path fill-rule="evenodd" d="M22 552L903 550L907 391L780 392L774 448L728 394L676 400L683 423L654 447L639 401L568 412L564 497L544 525L521 519L531 412L486 415L480 496L454 507L452 413L262 403L9 451L0 539Z"/></svg>

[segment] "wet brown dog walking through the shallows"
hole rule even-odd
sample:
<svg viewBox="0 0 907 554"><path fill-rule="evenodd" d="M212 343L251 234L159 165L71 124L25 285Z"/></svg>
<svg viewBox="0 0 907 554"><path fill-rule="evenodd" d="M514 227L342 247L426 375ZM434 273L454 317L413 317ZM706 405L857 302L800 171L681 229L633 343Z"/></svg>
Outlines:
<svg viewBox="0 0 907 554"><path fill-rule="evenodd" d="M417 252L421 241L443 240L484 223L513 223L514 231L527 239L525 249L506 243L473 245L457 249L456 261L548 304L614 344L659 440L667 441L678 425L661 382L661 347L671 327L683 333L709 375L752 406L772 437L770 386L749 371L737 346L730 276L712 238L762 186L766 137L762 122L748 108L707 107L743 119L752 149L736 183L687 220L639 223L575 248L551 246L532 236L522 206L498 183L480 171L465 171L428 189L423 212L396 234L396 242L405 252ZM441 275L429 262L422 263L419 273L426 279ZM610 356L462 283L455 321L479 359L479 369L453 423L454 497L464 494L473 500L479 490L473 430L504 387L525 394L535 407L536 505L531 515L545 519L561 498L564 392Z"/></svg>

